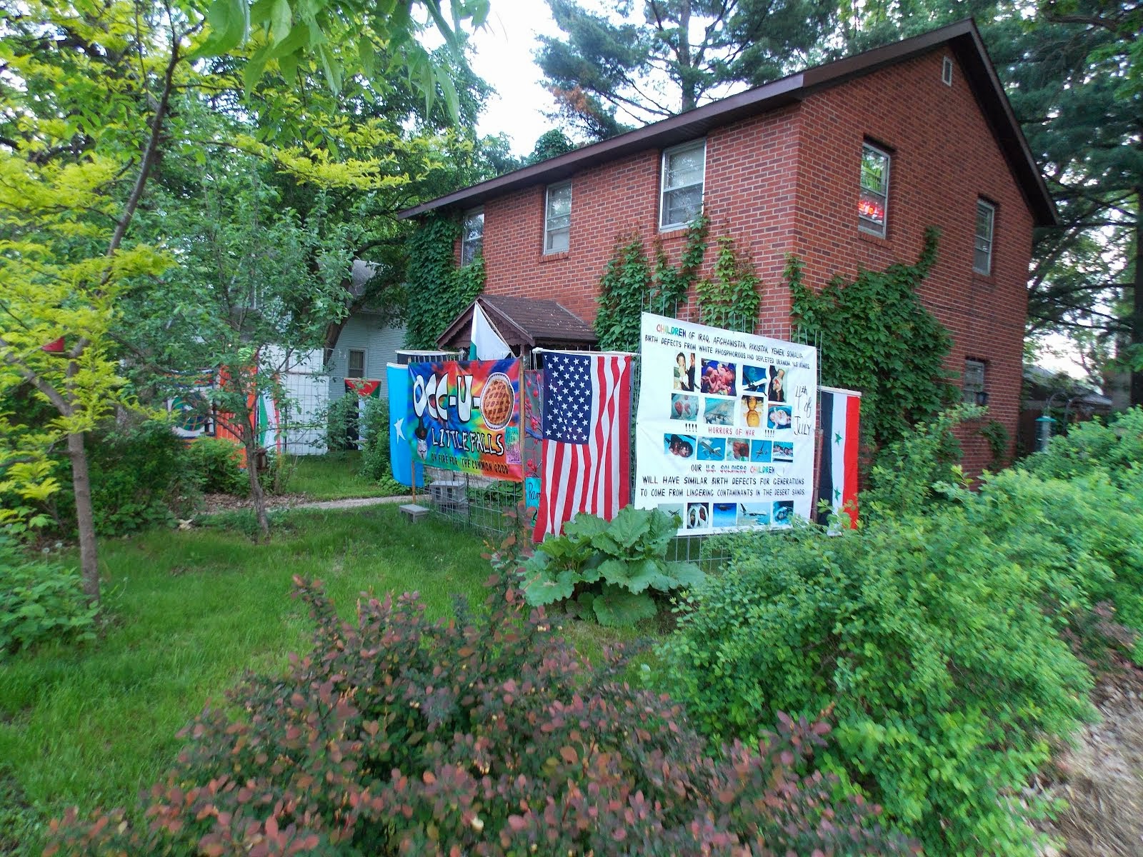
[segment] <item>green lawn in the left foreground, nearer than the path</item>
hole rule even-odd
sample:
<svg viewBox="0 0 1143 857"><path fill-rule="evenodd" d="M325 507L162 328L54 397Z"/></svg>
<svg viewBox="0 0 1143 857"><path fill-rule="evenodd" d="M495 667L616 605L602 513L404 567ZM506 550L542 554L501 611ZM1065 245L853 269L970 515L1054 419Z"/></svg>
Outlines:
<svg viewBox="0 0 1143 857"><path fill-rule="evenodd" d="M454 595L483 600L480 538L446 522L409 527L391 506L295 511L277 514L274 540L255 545L241 531L248 513L215 518L209 529L104 542L113 622L102 639L0 668L0 802L26 802L45 819L133 801L161 778L176 732L206 700L306 647L295 574L321 578L345 616L369 588L417 590L433 616L447 616ZM27 824L26 811L18 817Z"/></svg>

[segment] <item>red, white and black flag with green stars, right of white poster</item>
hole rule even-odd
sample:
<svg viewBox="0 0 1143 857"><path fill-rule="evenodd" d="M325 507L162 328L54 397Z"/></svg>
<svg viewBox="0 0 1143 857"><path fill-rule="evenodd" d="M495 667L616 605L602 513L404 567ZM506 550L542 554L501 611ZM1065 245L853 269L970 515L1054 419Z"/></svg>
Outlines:
<svg viewBox="0 0 1143 857"><path fill-rule="evenodd" d="M837 387L818 387L822 419L822 460L817 471L817 498L830 511L817 512L817 522L845 512L857 527L857 446L861 427L861 393Z"/></svg>

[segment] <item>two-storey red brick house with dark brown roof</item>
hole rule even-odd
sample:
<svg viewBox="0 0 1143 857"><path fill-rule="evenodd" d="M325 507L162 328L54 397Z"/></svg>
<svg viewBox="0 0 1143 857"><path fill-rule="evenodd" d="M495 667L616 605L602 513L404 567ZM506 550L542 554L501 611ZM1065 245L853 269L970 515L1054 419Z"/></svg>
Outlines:
<svg viewBox="0 0 1143 857"><path fill-rule="evenodd" d="M762 279L757 331L790 335L788 254L806 281L913 262L941 230L921 298L952 334L948 369L1016 436L1032 229L1055 208L975 24L822 65L401 213L464 218L486 294L558 301L586 322L617 239L677 259L700 206ZM713 254L708 254L706 265ZM991 456L965 444L976 471Z"/></svg>

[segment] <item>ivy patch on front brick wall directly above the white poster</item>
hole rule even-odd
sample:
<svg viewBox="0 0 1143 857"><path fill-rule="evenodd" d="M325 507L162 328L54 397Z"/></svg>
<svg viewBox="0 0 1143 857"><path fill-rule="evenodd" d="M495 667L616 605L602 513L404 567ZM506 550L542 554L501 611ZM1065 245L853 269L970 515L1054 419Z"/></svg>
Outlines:
<svg viewBox="0 0 1143 857"><path fill-rule="evenodd" d="M654 266L639 235L616 243L599 282L596 336L602 349L638 351L639 314L647 311L678 315L686 307L692 286L702 323L734 330L754 329L761 302L760 281L753 263L735 248L729 235L716 241L711 277L698 280L709 231L710 219L705 215L692 223L678 265L671 264L662 241L655 242Z"/></svg>

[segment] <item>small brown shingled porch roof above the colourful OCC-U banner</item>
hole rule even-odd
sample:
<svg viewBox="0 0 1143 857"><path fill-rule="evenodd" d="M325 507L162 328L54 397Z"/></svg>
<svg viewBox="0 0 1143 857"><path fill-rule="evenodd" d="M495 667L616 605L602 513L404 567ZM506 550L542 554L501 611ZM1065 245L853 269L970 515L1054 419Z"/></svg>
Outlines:
<svg viewBox="0 0 1143 857"><path fill-rule="evenodd" d="M554 301L533 301L506 295L480 295L437 337L442 349L469 345L472 336L472 307L480 304L488 320L510 346L594 345L596 331L580 317Z"/></svg>

